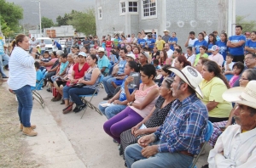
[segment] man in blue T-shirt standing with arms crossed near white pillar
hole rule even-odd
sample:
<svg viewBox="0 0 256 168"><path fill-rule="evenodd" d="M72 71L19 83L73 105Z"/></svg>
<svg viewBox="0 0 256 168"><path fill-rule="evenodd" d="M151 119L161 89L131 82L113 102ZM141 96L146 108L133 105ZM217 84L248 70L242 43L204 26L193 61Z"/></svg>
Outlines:
<svg viewBox="0 0 256 168"><path fill-rule="evenodd" d="M246 37L241 34L242 26L236 25L236 35L230 36L227 46L230 48L230 54L234 56L234 62L242 62L244 59L244 43L246 42Z"/></svg>

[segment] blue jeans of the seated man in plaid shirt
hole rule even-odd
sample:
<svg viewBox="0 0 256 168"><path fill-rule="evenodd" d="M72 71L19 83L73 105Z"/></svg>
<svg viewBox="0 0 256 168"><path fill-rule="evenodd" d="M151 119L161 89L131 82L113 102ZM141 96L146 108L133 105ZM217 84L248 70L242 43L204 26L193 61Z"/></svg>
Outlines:
<svg viewBox="0 0 256 168"><path fill-rule="evenodd" d="M158 144L158 142L153 143ZM156 168L156 167L170 167L170 168L188 168L193 161L192 156L180 153L157 153L148 159L142 155L142 147L139 144L131 144L125 148L125 161L128 168Z"/></svg>

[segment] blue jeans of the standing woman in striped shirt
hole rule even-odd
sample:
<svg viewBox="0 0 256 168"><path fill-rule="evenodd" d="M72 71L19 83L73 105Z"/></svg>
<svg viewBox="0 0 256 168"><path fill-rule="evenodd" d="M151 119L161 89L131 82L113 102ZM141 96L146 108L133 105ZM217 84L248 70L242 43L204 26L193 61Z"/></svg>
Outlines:
<svg viewBox="0 0 256 168"><path fill-rule="evenodd" d="M31 86L26 85L18 90L14 90L18 99L18 114L20 117L20 123L25 127L30 127L30 115L32 112L32 91Z"/></svg>

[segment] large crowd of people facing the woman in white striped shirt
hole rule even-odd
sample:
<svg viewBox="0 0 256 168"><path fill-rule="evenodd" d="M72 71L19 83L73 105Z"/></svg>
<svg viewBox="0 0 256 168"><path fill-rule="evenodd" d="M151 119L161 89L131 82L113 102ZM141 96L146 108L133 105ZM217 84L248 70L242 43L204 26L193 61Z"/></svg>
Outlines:
<svg viewBox="0 0 256 168"><path fill-rule="evenodd" d="M190 31L186 53L175 32L103 36L70 53L45 51L35 66L47 69L45 82L57 91L52 101L65 104L63 114L84 109L79 95L100 92L104 76L103 129L129 168L189 167L205 143L208 120L212 150L203 167L253 167L256 32L247 40L241 31L236 25L229 38L217 31L195 38ZM140 76L137 87L133 75Z"/></svg>

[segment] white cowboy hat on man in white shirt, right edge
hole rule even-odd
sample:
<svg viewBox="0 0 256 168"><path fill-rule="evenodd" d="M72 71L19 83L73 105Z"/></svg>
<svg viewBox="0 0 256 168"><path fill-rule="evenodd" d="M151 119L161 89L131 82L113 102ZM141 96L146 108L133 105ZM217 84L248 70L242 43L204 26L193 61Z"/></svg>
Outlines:
<svg viewBox="0 0 256 168"><path fill-rule="evenodd" d="M256 81L249 81L247 87L232 87L222 94L228 102L247 105L256 109Z"/></svg>

